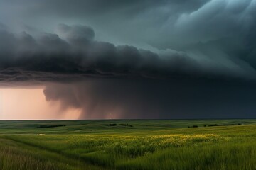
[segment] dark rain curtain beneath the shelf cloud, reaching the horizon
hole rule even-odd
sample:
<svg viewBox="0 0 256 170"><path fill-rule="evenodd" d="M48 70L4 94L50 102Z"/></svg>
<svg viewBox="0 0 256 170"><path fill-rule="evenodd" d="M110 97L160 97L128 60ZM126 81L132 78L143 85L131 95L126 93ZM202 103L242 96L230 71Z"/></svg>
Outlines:
<svg viewBox="0 0 256 170"><path fill-rule="evenodd" d="M87 79L49 84L47 101L80 108L81 119L253 118L255 83L198 79Z"/></svg>

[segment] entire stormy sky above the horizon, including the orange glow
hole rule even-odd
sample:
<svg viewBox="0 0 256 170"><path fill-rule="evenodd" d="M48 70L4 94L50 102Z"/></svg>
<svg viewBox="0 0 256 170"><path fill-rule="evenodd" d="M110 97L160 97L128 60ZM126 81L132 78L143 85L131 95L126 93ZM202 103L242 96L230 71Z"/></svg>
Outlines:
<svg viewBox="0 0 256 170"><path fill-rule="evenodd" d="M0 119L256 118L255 0L0 0Z"/></svg>

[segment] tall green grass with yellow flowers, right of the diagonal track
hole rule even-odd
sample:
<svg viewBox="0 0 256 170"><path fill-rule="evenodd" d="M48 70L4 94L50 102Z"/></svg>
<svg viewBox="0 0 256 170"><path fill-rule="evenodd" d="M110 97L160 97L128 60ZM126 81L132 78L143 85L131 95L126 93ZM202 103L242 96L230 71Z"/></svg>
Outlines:
<svg viewBox="0 0 256 170"><path fill-rule="evenodd" d="M239 144L214 134L28 135L9 139L110 169L254 169L256 163L256 144ZM243 157L242 163L238 157Z"/></svg>

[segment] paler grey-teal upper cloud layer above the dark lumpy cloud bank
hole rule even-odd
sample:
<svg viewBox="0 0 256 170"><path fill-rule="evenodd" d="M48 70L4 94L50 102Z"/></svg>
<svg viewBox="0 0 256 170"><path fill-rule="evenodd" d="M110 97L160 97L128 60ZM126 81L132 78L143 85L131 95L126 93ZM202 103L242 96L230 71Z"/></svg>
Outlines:
<svg viewBox="0 0 256 170"><path fill-rule="evenodd" d="M2 20L17 19L43 28L56 21L89 23L101 33L100 40L114 37L124 43L171 49L199 41L245 38L254 32L256 17L254 0L4 0L1 4Z"/></svg>

